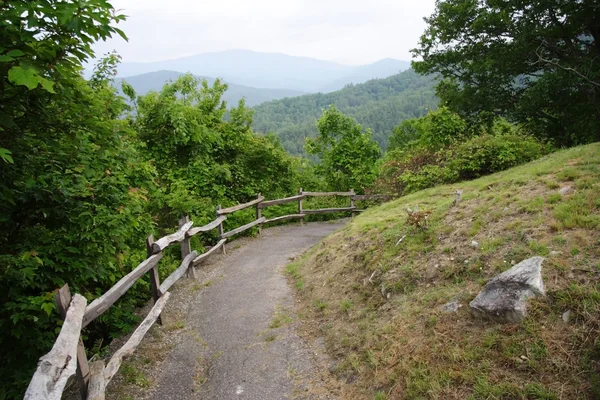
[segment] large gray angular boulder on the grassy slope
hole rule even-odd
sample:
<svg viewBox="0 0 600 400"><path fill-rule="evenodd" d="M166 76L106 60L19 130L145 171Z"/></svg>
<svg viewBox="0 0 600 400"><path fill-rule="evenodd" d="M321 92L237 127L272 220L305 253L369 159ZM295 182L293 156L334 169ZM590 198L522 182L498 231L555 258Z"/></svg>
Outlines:
<svg viewBox="0 0 600 400"><path fill-rule="evenodd" d="M490 279L469 304L471 313L497 322L521 322L527 315L527 299L546 293L543 261L543 257L529 258Z"/></svg>

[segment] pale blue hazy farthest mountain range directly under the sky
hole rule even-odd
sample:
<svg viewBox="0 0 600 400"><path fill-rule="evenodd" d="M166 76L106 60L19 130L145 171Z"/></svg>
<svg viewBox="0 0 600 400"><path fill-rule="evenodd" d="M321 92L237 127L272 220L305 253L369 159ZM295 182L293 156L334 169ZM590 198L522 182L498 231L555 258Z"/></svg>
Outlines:
<svg viewBox="0 0 600 400"><path fill-rule="evenodd" d="M357 84L369 79L386 78L409 67L409 62L391 58L356 66L281 53L228 50L165 61L123 63L118 67L118 76L126 78L133 85L132 77L136 75L157 72L166 75L164 71L170 71L171 74L191 72L201 77L223 78L230 84L242 87L314 93L332 92L350 83ZM150 78L160 82L158 80L160 77L161 75L157 75ZM146 78L149 77L138 77L136 80L143 81ZM143 83L143 85L154 84Z"/></svg>

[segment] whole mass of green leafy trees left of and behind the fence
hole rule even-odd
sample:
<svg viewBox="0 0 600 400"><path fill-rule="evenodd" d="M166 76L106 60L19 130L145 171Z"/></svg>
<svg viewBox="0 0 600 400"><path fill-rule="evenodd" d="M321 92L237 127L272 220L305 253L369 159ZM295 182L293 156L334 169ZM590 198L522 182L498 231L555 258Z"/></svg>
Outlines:
<svg viewBox="0 0 600 400"><path fill-rule="evenodd" d="M80 76L94 40L120 33L106 1L0 5L0 399L20 398L60 329L54 291L68 283L88 302L145 257L145 238L196 224L263 192L319 185L312 167L250 130L243 103L223 121L225 85L190 77L137 98L128 114L111 86L119 57ZM123 118L127 116L127 118ZM303 179L303 177L309 177ZM248 213L231 218L239 226ZM201 241L195 239L196 248ZM200 247L201 250L201 247ZM177 266L165 252L160 274ZM100 348L129 332L149 299L142 279L83 332Z"/></svg>

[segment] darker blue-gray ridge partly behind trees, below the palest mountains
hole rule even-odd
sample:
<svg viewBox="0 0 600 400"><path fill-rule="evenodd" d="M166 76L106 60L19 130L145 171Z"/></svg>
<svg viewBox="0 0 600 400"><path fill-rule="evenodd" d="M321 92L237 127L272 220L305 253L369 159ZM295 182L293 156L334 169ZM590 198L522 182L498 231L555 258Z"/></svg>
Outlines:
<svg viewBox="0 0 600 400"><path fill-rule="evenodd" d="M150 91L160 92L165 83L175 81L183 73L176 71L156 71L146 74L128 76L126 78L115 79L114 85L119 90L121 89L121 81L125 80L129 83L138 95L146 94ZM206 79L209 85L212 85L215 78L199 77ZM229 88L223 95L223 100L227 101L229 107L237 106L238 101L243 97L246 99L246 105L249 107L256 106L266 101L283 99L285 97L294 97L303 95L304 92L289 89L263 89L250 86L236 85L235 83L227 83Z"/></svg>

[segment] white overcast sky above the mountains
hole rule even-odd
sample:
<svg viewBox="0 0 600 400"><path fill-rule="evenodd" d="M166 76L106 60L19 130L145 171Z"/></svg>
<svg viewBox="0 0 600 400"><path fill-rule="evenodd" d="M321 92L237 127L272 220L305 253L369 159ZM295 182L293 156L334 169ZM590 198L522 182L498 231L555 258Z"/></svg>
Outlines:
<svg viewBox="0 0 600 400"><path fill-rule="evenodd" d="M129 42L98 43L124 62L230 49L285 53L344 64L410 60L435 0L112 0L128 15Z"/></svg>

